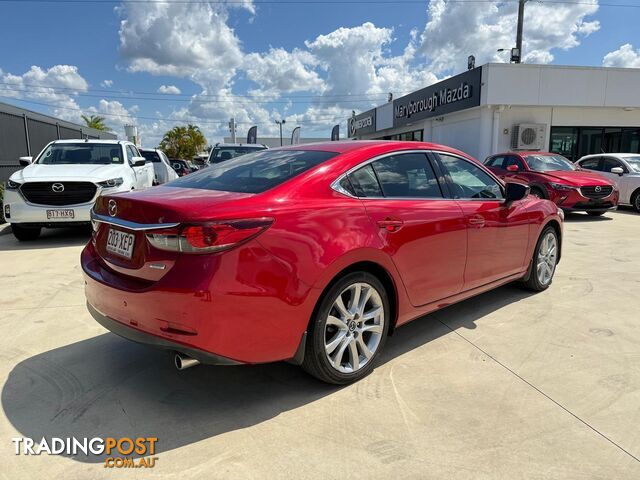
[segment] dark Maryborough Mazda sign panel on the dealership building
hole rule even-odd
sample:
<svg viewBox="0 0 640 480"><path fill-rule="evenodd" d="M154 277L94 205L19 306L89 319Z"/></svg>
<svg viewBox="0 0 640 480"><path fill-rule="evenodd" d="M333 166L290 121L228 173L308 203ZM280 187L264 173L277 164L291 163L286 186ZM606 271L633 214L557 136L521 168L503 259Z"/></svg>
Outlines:
<svg viewBox="0 0 640 480"><path fill-rule="evenodd" d="M418 90L393 102L393 126L480 105L482 68Z"/></svg>

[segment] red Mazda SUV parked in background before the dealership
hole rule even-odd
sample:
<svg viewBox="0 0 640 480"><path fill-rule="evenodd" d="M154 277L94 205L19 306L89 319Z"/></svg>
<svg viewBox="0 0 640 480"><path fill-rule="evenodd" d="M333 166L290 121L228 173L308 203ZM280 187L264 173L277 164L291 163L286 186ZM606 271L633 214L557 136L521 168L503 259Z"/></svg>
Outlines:
<svg viewBox="0 0 640 480"><path fill-rule="evenodd" d="M599 216L618 206L619 192L613 182L557 153L498 153L484 164L500 178L526 183L531 195L552 200L565 211Z"/></svg>

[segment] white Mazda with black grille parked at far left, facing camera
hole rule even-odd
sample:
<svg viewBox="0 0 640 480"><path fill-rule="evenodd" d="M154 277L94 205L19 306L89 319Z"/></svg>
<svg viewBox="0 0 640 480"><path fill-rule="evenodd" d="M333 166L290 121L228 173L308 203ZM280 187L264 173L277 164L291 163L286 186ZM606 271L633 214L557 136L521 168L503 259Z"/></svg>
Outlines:
<svg viewBox="0 0 640 480"><path fill-rule="evenodd" d="M119 140L56 140L6 183L4 216L18 240L42 227L88 224L99 195L151 187L153 165L136 146Z"/></svg>

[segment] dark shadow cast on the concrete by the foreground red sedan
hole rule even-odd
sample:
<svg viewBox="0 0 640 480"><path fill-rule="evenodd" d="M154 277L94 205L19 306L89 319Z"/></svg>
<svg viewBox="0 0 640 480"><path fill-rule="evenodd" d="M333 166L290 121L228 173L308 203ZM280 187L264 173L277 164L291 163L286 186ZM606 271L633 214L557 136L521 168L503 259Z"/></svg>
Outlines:
<svg viewBox="0 0 640 480"><path fill-rule="evenodd" d="M427 315L388 339L378 367L531 295L505 286ZM446 320L445 320L446 319ZM20 435L157 437L157 453L259 424L340 388L284 362L177 371L167 352L106 333L18 363L2 408ZM103 462L104 456L71 456Z"/></svg>

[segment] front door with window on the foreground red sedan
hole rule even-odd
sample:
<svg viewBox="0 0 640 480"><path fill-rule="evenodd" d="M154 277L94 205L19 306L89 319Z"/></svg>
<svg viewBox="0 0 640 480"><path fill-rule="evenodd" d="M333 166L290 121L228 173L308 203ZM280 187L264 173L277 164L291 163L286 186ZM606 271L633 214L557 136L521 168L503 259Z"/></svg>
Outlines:
<svg viewBox="0 0 640 480"><path fill-rule="evenodd" d="M464 290L521 272L529 242L528 200L507 205L502 185L479 164L448 153L438 158L467 226Z"/></svg>

